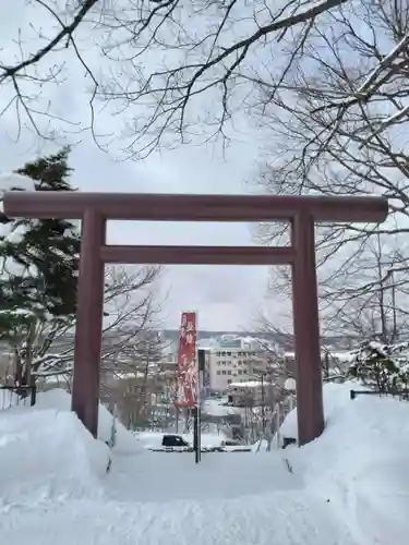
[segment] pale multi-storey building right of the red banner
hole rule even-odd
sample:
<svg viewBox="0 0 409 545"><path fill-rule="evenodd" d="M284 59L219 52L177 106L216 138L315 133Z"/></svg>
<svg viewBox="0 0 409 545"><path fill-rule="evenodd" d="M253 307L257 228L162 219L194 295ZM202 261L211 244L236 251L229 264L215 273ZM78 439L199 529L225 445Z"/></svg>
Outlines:
<svg viewBox="0 0 409 545"><path fill-rule="evenodd" d="M268 354L251 338L222 336L208 352L210 391L227 393L231 383L254 380L268 370Z"/></svg>

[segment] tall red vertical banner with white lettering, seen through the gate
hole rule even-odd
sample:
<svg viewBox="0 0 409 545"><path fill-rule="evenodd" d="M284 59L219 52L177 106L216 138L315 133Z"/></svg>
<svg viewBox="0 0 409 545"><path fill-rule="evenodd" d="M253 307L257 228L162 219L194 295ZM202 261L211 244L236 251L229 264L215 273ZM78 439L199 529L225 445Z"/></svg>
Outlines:
<svg viewBox="0 0 409 545"><path fill-rule="evenodd" d="M196 313L182 313L179 337L178 385L176 407L197 403Z"/></svg>

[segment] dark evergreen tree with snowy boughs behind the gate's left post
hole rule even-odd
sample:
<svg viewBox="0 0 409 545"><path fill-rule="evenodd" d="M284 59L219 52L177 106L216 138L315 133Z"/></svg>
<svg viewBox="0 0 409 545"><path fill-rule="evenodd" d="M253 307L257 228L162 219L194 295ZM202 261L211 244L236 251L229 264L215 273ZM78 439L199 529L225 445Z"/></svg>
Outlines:
<svg viewBox="0 0 409 545"><path fill-rule="evenodd" d="M74 191L69 154L64 147L16 172L33 179L36 191ZM68 220L3 215L0 222L0 340L26 359L38 326L56 329L74 318L81 238Z"/></svg>

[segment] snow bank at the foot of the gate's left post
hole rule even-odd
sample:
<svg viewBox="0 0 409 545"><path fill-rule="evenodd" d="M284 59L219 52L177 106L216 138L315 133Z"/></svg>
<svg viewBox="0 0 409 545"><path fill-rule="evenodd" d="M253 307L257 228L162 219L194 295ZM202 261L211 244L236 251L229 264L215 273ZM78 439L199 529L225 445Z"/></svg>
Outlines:
<svg viewBox="0 0 409 545"><path fill-rule="evenodd" d="M72 412L11 409L0 412L0 504L37 505L99 497L109 448Z"/></svg>

